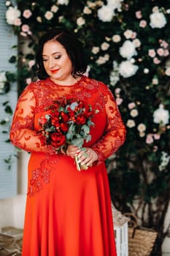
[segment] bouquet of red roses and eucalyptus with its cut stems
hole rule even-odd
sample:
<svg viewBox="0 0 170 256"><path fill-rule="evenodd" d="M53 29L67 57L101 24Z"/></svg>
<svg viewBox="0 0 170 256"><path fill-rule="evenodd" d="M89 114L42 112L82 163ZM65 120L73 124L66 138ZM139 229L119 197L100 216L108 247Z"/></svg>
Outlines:
<svg viewBox="0 0 170 256"><path fill-rule="evenodd" d="M55 151L66 150L69 144L82 148L84 141L91 140L90 126L93 110L90 105L80 100L61 97L45 108L45 113L39 118L39 133L43 146L52 145ZM78 164L78 170L85 170L87 166Z"/></svg>

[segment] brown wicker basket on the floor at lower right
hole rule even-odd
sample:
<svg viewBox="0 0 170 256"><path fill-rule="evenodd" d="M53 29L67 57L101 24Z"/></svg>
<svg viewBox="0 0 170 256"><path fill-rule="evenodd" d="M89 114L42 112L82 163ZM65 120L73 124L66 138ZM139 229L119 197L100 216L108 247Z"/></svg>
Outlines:
<svg viewBox="0 0 170 256"><path fill-rule="evenodd" d="M149 256L158 233L138 227L134 214L125 214L125 216L134 218L130 220L130 227L128 227L128 256Z"/></svg>

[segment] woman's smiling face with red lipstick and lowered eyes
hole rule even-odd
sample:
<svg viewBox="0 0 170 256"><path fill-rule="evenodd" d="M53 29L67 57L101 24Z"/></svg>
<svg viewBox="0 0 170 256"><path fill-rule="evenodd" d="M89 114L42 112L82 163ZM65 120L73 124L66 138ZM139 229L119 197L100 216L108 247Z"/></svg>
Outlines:
<svg viewBox="0 0 170 256"><path fill-rule="evenodd" d="M45 43L42 51L42 61L47 75L58 84L72 84L72 61L69 59L66 49L57 41Z"/></svg>

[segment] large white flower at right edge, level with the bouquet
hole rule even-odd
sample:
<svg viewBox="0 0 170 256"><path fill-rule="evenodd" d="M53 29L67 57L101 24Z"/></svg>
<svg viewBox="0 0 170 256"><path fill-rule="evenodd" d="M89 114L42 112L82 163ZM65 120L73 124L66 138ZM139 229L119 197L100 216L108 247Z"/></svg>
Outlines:
<svg viewBox="0 0 170 256"><path fill-rule="evenodd" d="M155 124L168 124L169 123L169 110L163 108L163 104L153 113L153 121Z"/></svg>

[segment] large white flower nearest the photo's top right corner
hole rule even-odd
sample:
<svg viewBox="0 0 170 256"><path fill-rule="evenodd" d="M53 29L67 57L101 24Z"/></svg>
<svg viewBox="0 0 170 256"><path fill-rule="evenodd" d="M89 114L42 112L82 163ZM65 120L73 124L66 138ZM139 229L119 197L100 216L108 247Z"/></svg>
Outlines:
<svg viewBox="0 0 170 256"><path fill-rule="evenodd" d="M152 29L161 29L166 26L166 17L163 12L153 12L150 15L150 26Z"/></svg>

